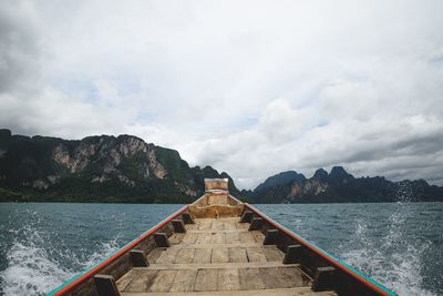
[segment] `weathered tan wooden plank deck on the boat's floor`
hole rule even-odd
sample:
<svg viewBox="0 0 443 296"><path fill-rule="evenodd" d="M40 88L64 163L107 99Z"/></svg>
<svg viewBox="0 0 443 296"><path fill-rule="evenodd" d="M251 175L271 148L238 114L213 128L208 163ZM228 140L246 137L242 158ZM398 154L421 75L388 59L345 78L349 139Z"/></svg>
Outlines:
<svg viewBox="0 0 443 296"><path fill-rule="evenodd" d="M120 278L119 290L123 295L249 295L244 294L248 290L269 290L262 295L274 295L271 292L280 289L296 293L296 287L309 288L310 282L298 265L282 265L284 253L276 246L262 245L265 236L247 231L248 226L249 223L238 223L238 218L196 220L186 225L187 233L169 237L171 247L151 251L146 255L148 267L135 267ZM282 295L334 294L300 289Z"/></svg>

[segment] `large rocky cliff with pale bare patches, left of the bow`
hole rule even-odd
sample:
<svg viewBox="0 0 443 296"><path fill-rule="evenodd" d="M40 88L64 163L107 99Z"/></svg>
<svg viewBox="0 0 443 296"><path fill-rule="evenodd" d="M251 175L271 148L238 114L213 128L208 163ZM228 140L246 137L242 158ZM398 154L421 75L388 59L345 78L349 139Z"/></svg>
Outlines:
<svg viewBox="0 0 443 296"><path fill-rule="evenodd" d="M204 177L222 176L229 177L189 167L178 152L136 136L66 141L0 130L0 187L54 200L188 202L203 192Z"/></svg>

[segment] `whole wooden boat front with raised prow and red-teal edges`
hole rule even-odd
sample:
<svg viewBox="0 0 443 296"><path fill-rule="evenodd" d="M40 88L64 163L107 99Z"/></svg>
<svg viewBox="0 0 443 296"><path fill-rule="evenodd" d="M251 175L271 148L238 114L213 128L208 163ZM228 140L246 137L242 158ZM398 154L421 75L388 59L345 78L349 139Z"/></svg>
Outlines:
<svg viewBox="0 0 443 296"><path fill-rule="evenodd" d="M205 180L205 194L49 295L395 295Z"/></svg>

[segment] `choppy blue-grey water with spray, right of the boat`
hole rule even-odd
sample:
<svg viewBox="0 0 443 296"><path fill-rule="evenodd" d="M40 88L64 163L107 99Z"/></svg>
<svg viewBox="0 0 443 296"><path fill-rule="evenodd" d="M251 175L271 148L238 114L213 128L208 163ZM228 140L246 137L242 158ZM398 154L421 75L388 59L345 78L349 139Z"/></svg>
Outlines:
<svg viewBox="0 0 443 296"><path fill-rule="evenodd" d="M399 295L443 295L443 203L257 207Z"/></svg>

